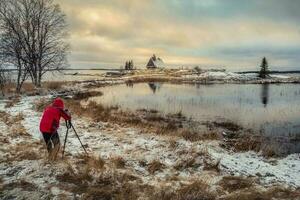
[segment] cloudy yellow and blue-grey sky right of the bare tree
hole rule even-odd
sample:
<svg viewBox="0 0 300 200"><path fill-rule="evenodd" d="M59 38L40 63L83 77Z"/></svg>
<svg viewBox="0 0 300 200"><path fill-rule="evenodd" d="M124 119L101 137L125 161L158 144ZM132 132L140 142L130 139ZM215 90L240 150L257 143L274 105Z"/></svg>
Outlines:
<svg viewBox="0 0 300 200"><path fill-rule="evenodd" d="M67 15L72 68L169 66L300 69L299 0L56 0Z"/></svg>

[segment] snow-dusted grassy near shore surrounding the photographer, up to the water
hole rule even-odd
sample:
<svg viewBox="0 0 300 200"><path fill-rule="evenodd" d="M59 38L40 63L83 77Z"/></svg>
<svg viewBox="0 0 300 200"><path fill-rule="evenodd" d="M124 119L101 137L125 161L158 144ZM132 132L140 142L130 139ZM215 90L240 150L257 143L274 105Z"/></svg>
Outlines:
<svg viewBox="0 0 300 200"><path fill-rule="evenodd" d="M27 198L42 198L47 194L52 198L66 196L72 199L75 194L80 199L95 192L103 192L104 186L99 182L107 183L105 190L112 197L123 191L115 188L121 184L121 188L128 189L126 194L129 191L132 195L138 188L142 193L138 196L149 200L152 200L151 196L161 199L165 191L178 196L183 190L205 191L213 199L229 200L234 195L248 195L249 190L259 193L260 197L273 195L274 192L276 195L288 194L290 198L300 194L300 179L297 176L299 153L286 157L264 157L260 152L247 148L234 151L222 146L223 139L227 137L220 135L223 128L218 131L217 137L211 135L207 139L195 139L194 135L187 132L178 132L179 135L158 133L158 130L168 127L170 119L160 116L157 111L141 110L138 114L110 108L112 114L109 114L111 111L108 112L107 108L100 105L99 108L93 105L94 109L82 105L80 102L88 96L101 95L91 93L93 83L99 87L126 84L126 81L104 78L99 82L69 82L60 87L56 85L54 89L44 89L39 94L23 95L7 108L6 104L10 100L0 102L0 151L5 152L0 164L0 188L3 188L4 197L17 193ZM76 96L76 93L79 94ZM60 95L66 98L66 104L74 111L74 125L83 143L87 144L90 158L83 156L73 134L67 143L65 159L51 162L46 158L37 124L45 105ZM45 102L38 105L41 99ZM41 110L37 111L37 108ZM77 112L75 109L78 109ZM108 115L111 115L111 120L103 120ZM181 127L181 117L175 116L170 122L180 122L178 127ZM140 120L142 125L134 125L140 123ZM151 128L151 124L154 128ZM232 126L232 130L239 130L234 125L225 125L228 128ZM177 130L176 127L168 128L173 132ZM62 125L59 130L61 138L65 131ZM243 129L239 131L245 132ZM241 139L252 141L244 137ZM19 175L16 178L14 174ZM27 192L28 184L34 188L34 192ZM245 186L239 188L240 184ZM88 190L90 187L92 191ZM140 187L147 189L142 190ZM186 193L182 195L185 197Z"/></svg>

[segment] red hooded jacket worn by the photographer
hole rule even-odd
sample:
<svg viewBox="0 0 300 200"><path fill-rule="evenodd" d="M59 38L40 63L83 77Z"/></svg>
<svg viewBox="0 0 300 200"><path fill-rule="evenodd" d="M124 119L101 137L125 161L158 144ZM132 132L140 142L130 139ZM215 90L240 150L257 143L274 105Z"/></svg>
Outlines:
<svg viewBox="0 0 300 200"><path fill-rule="evenodd" d="M64 111L64 102L57 98L51 106L44 110L43 117L40 122L40 131L42 133L55 133L59 128L60 118L70 120L71 116Z"/></svg>

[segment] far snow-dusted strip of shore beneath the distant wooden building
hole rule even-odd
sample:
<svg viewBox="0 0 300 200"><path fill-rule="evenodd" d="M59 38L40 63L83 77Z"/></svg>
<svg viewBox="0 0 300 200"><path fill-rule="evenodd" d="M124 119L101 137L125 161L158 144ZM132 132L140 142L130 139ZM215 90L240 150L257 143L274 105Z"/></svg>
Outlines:
<svg viewBox="0 0 300 200"><path fill-rule="evenodd" d="M136 82L169 82L175 84L278 84L300 83L297 74L271 74L266 79L257 77L255 73L234 73L225 70L136 70L124 71L114 75L103 74L93 77L92 80L77 81L87 87L106 86L111 84L136 83Z"/></svg>

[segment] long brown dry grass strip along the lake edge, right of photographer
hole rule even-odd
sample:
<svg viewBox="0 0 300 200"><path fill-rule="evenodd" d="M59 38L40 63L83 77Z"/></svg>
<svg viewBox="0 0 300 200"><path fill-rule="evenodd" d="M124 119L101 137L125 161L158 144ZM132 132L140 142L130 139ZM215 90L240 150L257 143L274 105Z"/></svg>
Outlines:
<svg viewBox="0 0 300 200"><path fill-rule="evenodd" d="M103 106L94 101L81 105L80 100L68 99L66 107L79 116L91 118L95 122L104 121L119 125L130 125L142 129L145 133L157 135L172 135L182 137L189 141L216 140L220 136L216 132L199 133L188 128L183 128L183 123L188 124L181 113L162 115L156 110L138 110L136 112L122 111L116 106ZM38 107L38 106L37 106Z"/></svg>

